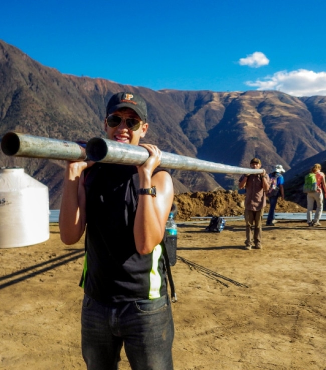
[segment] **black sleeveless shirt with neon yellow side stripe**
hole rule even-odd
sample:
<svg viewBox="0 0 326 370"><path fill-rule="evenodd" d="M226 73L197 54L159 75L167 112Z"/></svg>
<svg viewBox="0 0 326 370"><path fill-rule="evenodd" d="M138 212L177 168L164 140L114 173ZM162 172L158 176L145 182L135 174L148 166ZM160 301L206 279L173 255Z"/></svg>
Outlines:
<svg viewBox="0 0 326 370"><path fill-rule="evenodd" d="M137 168L95 163L84 174L87 225L81 285L85 293L102 303L165 295L162 245L145 255L140 255L135 247Z"/></svg>

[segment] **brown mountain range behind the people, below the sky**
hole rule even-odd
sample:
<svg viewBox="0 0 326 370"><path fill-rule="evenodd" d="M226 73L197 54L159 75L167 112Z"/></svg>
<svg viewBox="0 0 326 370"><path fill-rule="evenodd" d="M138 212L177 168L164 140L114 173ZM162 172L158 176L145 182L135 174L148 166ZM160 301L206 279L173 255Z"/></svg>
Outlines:
<svg viewBox="0 0 326 370"><path fill-rule="evenodd" d="M326 160L326 97L255 90L154 91L62 74L0 40L0 138L10 131L70 141L105 137L106 104L122 90L145 99L145 141L161 150L241 167L259 157L267 172L282 164L289 181L288 174L297 176L293 169L306 171L314 158ZM63 161L9 157L0 151L0 165L24 167L49 187L50 208L59 208ZM179 170L172 174L176 193L235 189L239 178Z"/></svg>

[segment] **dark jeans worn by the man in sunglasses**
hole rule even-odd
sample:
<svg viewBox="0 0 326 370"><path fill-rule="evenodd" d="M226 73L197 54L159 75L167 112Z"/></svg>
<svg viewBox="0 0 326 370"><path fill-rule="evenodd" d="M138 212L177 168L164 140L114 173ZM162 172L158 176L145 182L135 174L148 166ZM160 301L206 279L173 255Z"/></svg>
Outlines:
<svg viewBox="0 0 326 370"><path fill-rule="evenodd" d="M117 370L123 343L132 370L173 370L168 296L102 305L85 295L81 321L88 370Z"/></svg>

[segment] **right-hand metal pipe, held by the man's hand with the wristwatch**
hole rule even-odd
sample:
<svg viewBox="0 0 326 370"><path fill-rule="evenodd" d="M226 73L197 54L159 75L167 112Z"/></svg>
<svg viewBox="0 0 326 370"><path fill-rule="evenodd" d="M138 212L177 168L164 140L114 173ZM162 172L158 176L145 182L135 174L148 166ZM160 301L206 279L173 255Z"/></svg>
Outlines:
<svg viewBox="0 0 326 370"><path fill-rule="evenodd" d="M94 137L86 144L86 154L90 160L104 163L139 165L149 157L148 151L137 145L123 144L113 140ZM262 173L262 169L229 166L197 158L186 157L162 151L160 166L189 171L216 173Z"/></svg>

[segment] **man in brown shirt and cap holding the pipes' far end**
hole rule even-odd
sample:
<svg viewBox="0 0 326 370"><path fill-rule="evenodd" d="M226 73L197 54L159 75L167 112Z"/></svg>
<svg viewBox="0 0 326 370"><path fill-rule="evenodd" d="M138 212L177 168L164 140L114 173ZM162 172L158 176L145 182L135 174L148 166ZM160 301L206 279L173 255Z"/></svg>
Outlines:
<svg viewBox="0 0 326 370"><path fill-rule="evenodd" d="M259 169L261 167L260 159L251 159L250 167ZM252 247L256 249L262 248L262 219L264 208L266 207L266 192L269 189L269 185L270 180L264 169L262 169L262 173L242 175L239 179L239 189L246 189L244 214L246 223L246 250L250 250ZM254 231L252 232L253 227Z"/></svg>

